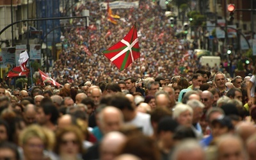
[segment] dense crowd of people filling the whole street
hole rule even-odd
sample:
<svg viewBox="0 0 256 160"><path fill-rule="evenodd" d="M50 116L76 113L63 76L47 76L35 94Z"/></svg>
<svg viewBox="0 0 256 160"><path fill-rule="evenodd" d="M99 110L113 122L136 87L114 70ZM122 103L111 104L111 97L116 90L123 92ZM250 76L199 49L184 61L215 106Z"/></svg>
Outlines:
<svg viewBox="0 0 256 160"><path fill-rule="evenodd" d="M225 60L223 68L201 66L193 52L187 60L193 46L150 2L114 10L124 18L116 26L97 1L76 8L77 15L90 9L101 24L66 28L48 73L61 88L0 84L0 159L255 159L256 67L233 77ZM120 72L102 54L135 21L143 74L139 61Z"/></svg>

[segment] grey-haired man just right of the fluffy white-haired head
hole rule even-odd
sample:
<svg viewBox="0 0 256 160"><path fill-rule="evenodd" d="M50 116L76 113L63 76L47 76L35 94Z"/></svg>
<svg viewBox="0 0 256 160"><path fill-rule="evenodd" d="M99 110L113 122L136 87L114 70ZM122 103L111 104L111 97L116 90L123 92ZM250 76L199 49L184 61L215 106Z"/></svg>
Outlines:
<svg viewBox="0 0 256 160"><path fill-rule="evenodd" d="M193 109L193 127L195 127L198 132L202 133L202 128L199 121L203 115L204 104L196 99L189 100L187 104Z"/></svg>

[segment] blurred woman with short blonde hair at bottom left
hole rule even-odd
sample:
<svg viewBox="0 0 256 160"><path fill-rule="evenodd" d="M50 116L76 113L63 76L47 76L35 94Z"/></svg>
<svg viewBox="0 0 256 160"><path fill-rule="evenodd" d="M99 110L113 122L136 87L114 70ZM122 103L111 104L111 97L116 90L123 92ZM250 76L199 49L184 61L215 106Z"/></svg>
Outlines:
<svg viewBox="0 0 256 160"><path fill-rule="evenodd" d="M39 125L30 125L21 132L19 137L24 160L53 159L51 150L54 142L54 133Z"/></svg>

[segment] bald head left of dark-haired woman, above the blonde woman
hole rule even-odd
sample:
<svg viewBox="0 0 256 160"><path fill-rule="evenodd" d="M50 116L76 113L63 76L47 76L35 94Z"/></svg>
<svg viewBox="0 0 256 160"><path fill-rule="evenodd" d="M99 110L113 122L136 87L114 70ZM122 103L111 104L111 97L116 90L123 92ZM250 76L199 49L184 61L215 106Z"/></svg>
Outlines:
<svg viewBox="0 0 256 160"><path fill-rule="evenodd" d="M25 107L23 118L26 125L31 125L36 122L36 106L34 104L28 104Z"/></svg>

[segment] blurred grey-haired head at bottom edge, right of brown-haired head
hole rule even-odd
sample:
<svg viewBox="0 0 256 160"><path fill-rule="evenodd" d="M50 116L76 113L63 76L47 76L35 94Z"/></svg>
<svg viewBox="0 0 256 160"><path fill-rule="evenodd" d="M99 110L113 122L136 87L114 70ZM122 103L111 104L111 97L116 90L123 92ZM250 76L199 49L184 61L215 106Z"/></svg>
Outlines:
<svg viewBox="0 0 256 160"><path fill-rule="evenodd" d="M175 148L172 160L205 160L203 148L196 140L184 140Z"/></svg>

